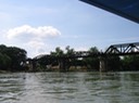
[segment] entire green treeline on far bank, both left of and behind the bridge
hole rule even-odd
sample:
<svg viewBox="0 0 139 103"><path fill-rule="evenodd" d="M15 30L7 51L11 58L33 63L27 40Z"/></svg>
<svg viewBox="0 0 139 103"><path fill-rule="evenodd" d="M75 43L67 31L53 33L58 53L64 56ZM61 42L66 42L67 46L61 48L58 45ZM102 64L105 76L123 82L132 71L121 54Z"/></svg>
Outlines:
<svg viewBox="0 0 139 103"><path fill-rule="evenodd" d="M92 47L88 50L91 54L99 53L97 47ZM72 55L75 50L67 46L65 50L60 47L55 48L55 51L50 52L51 55ZM53 70L59 65L59 60L46 60L43 56L39 59L36 67L33 69L31 64L27 63L27 52L24 49L17 47L0 46L0 70L8 72L30 72L30 70ZM34 60L34 59L30 59ZM66 60L68 70L99 70L100 59L94 57L83 57L83 59L70 59ZM51 64L51 67L50 67ZM106 57L108 70L139 70L139 55L126 55L126 56L108 56ZM30 66L31 65L31 66ZM54 68L55 69L55 68ZM56 68L58 69L58 68Z"/></svg>

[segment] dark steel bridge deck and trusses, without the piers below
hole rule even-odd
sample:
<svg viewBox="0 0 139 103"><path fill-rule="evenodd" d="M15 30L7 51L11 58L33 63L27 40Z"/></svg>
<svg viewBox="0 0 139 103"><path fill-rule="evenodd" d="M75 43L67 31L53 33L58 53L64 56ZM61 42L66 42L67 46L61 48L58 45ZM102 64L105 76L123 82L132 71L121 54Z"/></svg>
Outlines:
<svg viewBox="0 0 139 103"><path fill-rule="evenodd" d="M41 57L46 57L46 59L77 59L77 57L134 55L134 54L139 54L139 42L112 44L104 52L91 53L88 51L76 51L73 54L38 55L33 60L39 60Z"/></svg>

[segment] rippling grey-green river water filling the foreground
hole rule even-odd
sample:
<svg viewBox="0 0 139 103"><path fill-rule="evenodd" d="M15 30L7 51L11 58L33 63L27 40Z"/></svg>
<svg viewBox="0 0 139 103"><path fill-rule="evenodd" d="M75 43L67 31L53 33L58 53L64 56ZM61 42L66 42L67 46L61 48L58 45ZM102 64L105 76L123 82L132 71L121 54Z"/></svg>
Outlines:
<svg viewBox="0 0 139 103"><path fill-rule="evenodd" d="M138 103L139 73L0 74L0 103Z"/></svg>

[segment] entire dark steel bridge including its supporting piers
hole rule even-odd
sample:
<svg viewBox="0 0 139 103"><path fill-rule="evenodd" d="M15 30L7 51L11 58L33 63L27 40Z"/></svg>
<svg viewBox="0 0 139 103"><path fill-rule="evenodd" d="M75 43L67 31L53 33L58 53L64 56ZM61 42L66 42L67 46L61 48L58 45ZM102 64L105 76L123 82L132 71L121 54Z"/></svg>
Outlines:
<svg viewBox="0 0 139 103"><path fill-rule="evenodd" d="M33 60L29 60L31 64L37 64L39 60L59 61L59 66L61 70L68 69L67 62L72 59L84 59L84 57L99 57L100 60L100 70L106 69L106 59L109 56L124 56L124 55L136 55L139 54L139 42L131 43L121 43L121 44L111 44L104 52L88 52L88 51L75 51L72 54L62 54L62 55L38 55Z"/></svg>

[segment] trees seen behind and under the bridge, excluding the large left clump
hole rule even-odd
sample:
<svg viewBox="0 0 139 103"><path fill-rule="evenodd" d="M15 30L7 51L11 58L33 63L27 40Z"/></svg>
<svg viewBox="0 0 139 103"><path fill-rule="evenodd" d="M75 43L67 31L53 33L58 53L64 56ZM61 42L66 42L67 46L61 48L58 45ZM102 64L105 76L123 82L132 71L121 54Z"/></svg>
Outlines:
<svg viewBox="0 0 139 103"><path fill-rule="evenodd" d="M88 50L90 54L100 53L97 47L92 47ZM62 50L60 47L55 48L55 51L50 52L50 56L61 56L61 55L72 55L75 54L75 50L67 46L65 50ZM83 59L70 59L65 60L66 65L68 66L67 70L100 70L100 56L93 57L83 57ZM52 64L59 65L59 60L46 60L45 56L41 56L38 61L38 69L48 69L46 65ZM126 55L126 56L106 56L106 70L139 70L139 55ZM53 68L52 67L52 68ZM50 68L50 70L52 70Z"/></svg>

